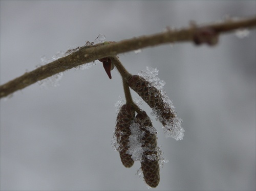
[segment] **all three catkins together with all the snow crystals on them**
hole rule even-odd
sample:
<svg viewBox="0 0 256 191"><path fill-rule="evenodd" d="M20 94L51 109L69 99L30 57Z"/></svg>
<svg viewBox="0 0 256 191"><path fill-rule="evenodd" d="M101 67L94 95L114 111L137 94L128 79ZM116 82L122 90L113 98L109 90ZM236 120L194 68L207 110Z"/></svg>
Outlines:
<svg viewBox="0 0 256 191"><path fill-rule="evenodd" d="M139 75L131 75L126 83L152 108L152 114L162 123L166 137L180 140L184 136L182 120L177 117L172 100L163 89L165 82L157 75L157 68L147 67ZM160 167L167 161L157 146L157 131L146 112L138 110L140 105L141 100L124 104L119 97L115 104L118 114L112 146L119 152L126 168L130 168L134 161L140 161L145 183L156 187L160 181Z"/></svg>

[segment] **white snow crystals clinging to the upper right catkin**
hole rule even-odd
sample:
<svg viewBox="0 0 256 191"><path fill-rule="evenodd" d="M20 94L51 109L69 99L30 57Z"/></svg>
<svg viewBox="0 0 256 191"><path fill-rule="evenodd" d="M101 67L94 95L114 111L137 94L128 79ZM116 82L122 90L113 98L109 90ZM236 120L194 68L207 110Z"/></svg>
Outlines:
<svg viewBox="0 0 256 191"><path fill-rule="evenodd" d="M138 75L144 78L146 81L150 82L151 86L154 86L159 90L159 92L162 95L163 102L166 105L166 111L171 110L172 113L175 114L175 107L173 105L172 100L169 99L167 96L165 90L163 89L163 86L165 85L165 82L163 80L160 80L157 75L158 75L158 69L157 68L152 68L152 67L146 67L146 70L139 71ZM157 95L156 95L157 96ZM153 116L156 116L156 120L159 122L164 121L165 126L163 127L163 131L165 133L166 137L173 137L176 140L181 140L183 139L184 136L184 129L181 127L182 120L179 117L175 117L170 119L169 121L164 120L161 117L161 111L157 111L153 109L152 113Z"/></svg>

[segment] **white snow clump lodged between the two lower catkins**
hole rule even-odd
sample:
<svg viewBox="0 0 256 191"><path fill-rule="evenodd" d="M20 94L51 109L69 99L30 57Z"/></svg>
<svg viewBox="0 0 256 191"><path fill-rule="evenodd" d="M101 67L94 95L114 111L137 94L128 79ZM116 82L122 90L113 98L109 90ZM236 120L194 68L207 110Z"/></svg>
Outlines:
<svg viewBox="0 0 256 191"><path fill-rule="evenodd" d="M130 154L132 156L132 159L134 161L141 160L142 155L144 153L144 149L142 148L142 142L141 139L145 135L144 131L140 130L140 125L138 123L133 123L130 126L131 129L131 135L129 137L129 149L127 150L127 154Z"/></svg>

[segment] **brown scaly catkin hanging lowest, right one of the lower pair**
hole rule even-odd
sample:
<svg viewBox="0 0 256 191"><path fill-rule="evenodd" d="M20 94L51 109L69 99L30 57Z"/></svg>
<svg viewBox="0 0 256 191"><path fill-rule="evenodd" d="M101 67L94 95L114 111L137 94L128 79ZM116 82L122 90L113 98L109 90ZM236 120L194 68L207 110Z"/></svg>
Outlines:
<svg viewBox="0 0 256 191"><path fill-rule="evenodd" d="M140 125L140 130L145 134L141 140L142 148L144 148L141 170L144 176L144 180L147 185L151 187L157 187L160 181L160 170L157 156L157 137L148 128L153 128L150 117L147 116L145 111L137 114L134 120L135 123Z"/></svg>

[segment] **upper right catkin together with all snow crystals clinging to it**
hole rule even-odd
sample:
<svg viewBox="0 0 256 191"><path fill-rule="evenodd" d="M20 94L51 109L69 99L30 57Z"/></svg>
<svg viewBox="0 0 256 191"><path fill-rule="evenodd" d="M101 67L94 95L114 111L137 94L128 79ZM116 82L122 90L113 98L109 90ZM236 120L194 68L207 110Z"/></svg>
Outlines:
<svg viewBox="0 0 256 191"><path fill-rule="evenodd" d="M152 108L152 114L163 125L165 136L176 140L183 139L182 120L177 117L173 102L163 89L165 82L157 77L158 69L146 67L138 75L139 77L134 75L131 79L132 89Z"/></svg>

